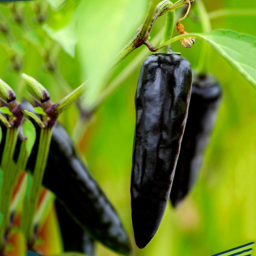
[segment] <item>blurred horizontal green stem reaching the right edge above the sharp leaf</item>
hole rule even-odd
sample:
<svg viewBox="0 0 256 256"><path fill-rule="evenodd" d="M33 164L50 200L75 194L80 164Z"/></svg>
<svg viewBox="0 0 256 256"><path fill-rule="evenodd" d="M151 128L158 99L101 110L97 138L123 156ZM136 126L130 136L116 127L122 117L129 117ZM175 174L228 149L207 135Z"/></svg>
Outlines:
<svg viewBox="0 0 256 256"><path fill-rule="evenodd" d="M210 20L214 20L217 18L224 18L224 17L232 17L232 16L255 16L256 10L250 9L221 9L221 10L214 10L209 12Z"/></svg>

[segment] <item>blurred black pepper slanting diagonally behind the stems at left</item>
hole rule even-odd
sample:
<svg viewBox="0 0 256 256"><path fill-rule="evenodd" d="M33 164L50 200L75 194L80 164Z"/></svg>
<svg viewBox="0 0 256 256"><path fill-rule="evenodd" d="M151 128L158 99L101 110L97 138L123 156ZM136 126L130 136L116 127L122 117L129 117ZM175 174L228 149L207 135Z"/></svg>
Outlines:
<svg viewBox="0 0 256 256"><path fill-rule="evenodd" d="M33 106L27 101L22 102L21 108L33 112ZM27 170L30 171L34 170L39 146L40 129L35 123L34 125L37 137L27 163ZM18 155L21 138L22 136L18 138L14 158ZM5 138L1 146L4 141ZM91 238L123 255L131 253L129 236L121 224L120 217L101 187L89 174L88 167L59 122L54 125L42 185L56 194L76 223L88 232Z"/></svg>

